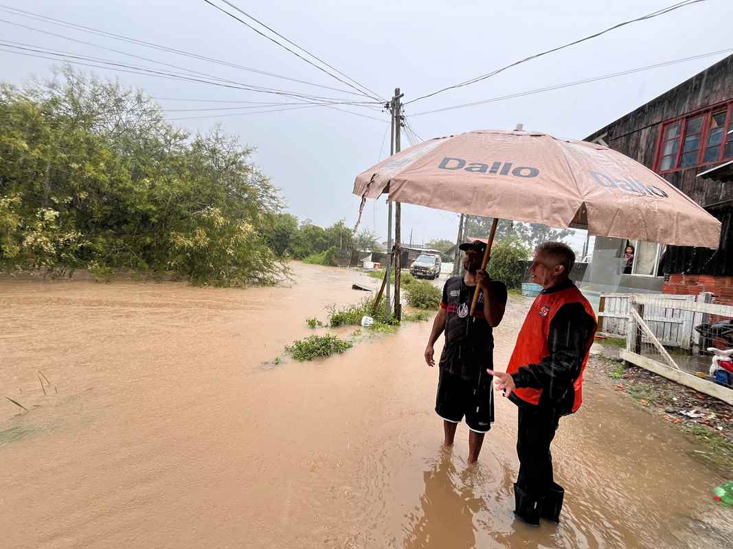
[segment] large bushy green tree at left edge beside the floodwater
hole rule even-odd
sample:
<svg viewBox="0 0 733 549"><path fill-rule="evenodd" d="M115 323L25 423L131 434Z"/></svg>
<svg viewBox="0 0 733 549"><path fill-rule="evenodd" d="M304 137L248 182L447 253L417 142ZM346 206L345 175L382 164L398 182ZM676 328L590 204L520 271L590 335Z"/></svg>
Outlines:
<svg viewBox="0 0 733 549"><path fill-rule="evenodd" d="M22 92L0 86L0 268L273 283L282 268L262 235L281 198L252 152L67 68Z"/></svg>

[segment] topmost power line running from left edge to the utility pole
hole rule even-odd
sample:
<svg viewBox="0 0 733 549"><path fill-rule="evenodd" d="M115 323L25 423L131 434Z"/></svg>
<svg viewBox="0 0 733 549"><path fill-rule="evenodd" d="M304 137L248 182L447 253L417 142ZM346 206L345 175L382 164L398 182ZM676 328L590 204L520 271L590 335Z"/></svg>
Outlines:
<svg viewBox="0 0 733 549"><path fill-rule="evenodd" d="M347 89L340 89L340 88L334 88L334 87L331 87L331 86L324 86L322 84L317 84L317 83L312 83L312 82L309 82L309 81L299 80L298 78L290 78L288 76L279 75L279 74L276 74L274 72L268 72L268 71L265 71L265 70L254 69L252 67L245 67L245 66L240 65L240 64L232 63L230 61L222 61L221 59L215 59L213 57L199 55L198 53L193 53L193 52L190 52L190 51L179 50L177 48L171 48L171 47L165 46L165 45L155 44L155 42L147 42L146 40L139 40L139 39L136 39L136 38L130 38L130 37L126 37L126 36L124 36L122 34L115 34L113 32L102 31L100 29L94 29L94 28L89 27L89 26L79 25L78 23L70 23L69 21L51 18L51 17L48 17L46 15L40 15L40 14L34 13L34 12L27 12L25 10L18 10L18 8L14 8L14 7L10 7L10 6L4 6L3 4L0 4L0 11L7 12L7 13L10 13L12 15L20 15L21 17L25 17L25 18L29 18L29 19L33 19L33 20L38 20L38 21L41 21L43 23L50 23L52 25L62 26L62 27L65 27L67 29L73 29L75 31L83 31L83 32L86 32L86 33L89 33L89 34L95 34L95 35L100 36L100 37L111 38L113 40L119 40L121 42L128 42L128 43L134 44L134 45L141 45L141 46L144 46L144 47L147 47L147 48L156 49L158 51L165 51L167 53L174 53L176 55L185 56L185 57L188 57L190 59L198 59L199 61L208 61L210 63L219 64L219 65L223 65L223 66L226 66L226 67L235 68L235 69L238 69L238 70L245 70L247 72L254 72L254 73L257 73L257 74L261 74L261 75L265 75L265 76L270 76L272 78L281 78L282 80L303 83L303 84L306 84L307 86L317 86L317 87L324 88L324 89L330 89L330 90L333 90L333 91L339 91L339 92L345 93L345 94L353 94L353 95L358 95L359 94L356 91L351 91L351 90L347 90ZM10 23L10 24L20 25L20 23ZM34 29L34 30L39 30L39 29ZM45 31L41 31L41 32L45 32ZM361 95L363 95L363 94L361 94Z"/></svg>

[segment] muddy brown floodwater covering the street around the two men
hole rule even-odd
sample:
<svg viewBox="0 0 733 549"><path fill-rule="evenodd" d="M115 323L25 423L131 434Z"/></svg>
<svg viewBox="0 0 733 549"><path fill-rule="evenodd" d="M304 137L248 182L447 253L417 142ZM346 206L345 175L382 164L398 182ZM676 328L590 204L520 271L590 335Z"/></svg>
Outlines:
<svg viewBox="0 0 733 549"><path fill-rule="evenodd" d="M553 445L562 523L528 529L512 518L511 403L498 399L477 466L465 425L441 448L429 323L265 364L313 333L305 318L364 296L351 283L377 285L293 268L290 288L246 291L0 281L0 397L29 408L0 403L0 545L730 547L731 513L712 501L720 474L592 373ZM527 307L511 300L497 365Z"/></svg>

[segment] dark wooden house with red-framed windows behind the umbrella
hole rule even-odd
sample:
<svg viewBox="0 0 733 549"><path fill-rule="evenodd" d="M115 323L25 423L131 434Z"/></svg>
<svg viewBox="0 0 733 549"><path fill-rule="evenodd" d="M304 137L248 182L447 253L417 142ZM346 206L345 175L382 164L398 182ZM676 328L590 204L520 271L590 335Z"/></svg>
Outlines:
<svg viewBox="0 0 733 549"><path fill-rule="evenodd" d="M585 141L609 146L646 165L723 221L721 249L715 255L699 248L597 236L586 282L602 290L685 294L713 291L721 295L723 287L730 288L733 55L593 132ZM630 268L623 259L628 245L635 248Z"/></svg>

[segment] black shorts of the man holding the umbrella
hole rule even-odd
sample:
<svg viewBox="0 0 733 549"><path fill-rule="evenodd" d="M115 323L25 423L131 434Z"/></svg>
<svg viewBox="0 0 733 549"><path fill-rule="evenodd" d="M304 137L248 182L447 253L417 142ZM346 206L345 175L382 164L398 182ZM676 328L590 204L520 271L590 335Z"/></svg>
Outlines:
<svg viewBox="0 0 733 549"><path fill-rule="evenodd" d="M494 421L492 376L483 373L477 381L468 381L441 368L435 413L446 421L465 424L476 433L486 433Z"/></svg>

